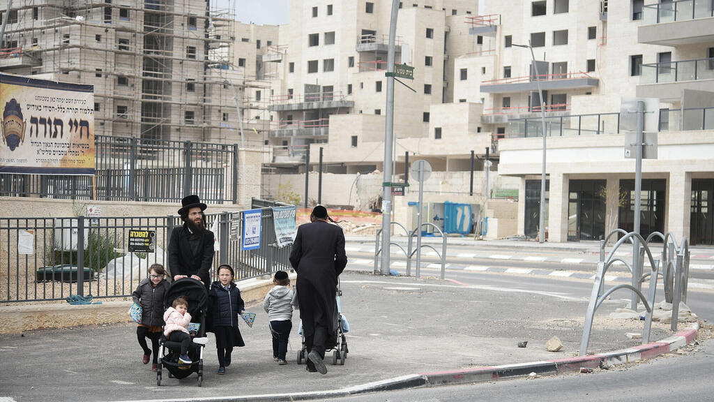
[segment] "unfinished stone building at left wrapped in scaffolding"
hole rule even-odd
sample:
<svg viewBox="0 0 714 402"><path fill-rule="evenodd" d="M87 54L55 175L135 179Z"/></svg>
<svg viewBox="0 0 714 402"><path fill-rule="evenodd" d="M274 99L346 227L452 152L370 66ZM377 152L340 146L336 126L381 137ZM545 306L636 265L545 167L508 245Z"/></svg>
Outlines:
<svg viewBox="0 0 714 402"><path fill-rule="evenodd" d="M94 85L95 134L241 142L232 1L8 3L0 71Z"/></svg>

